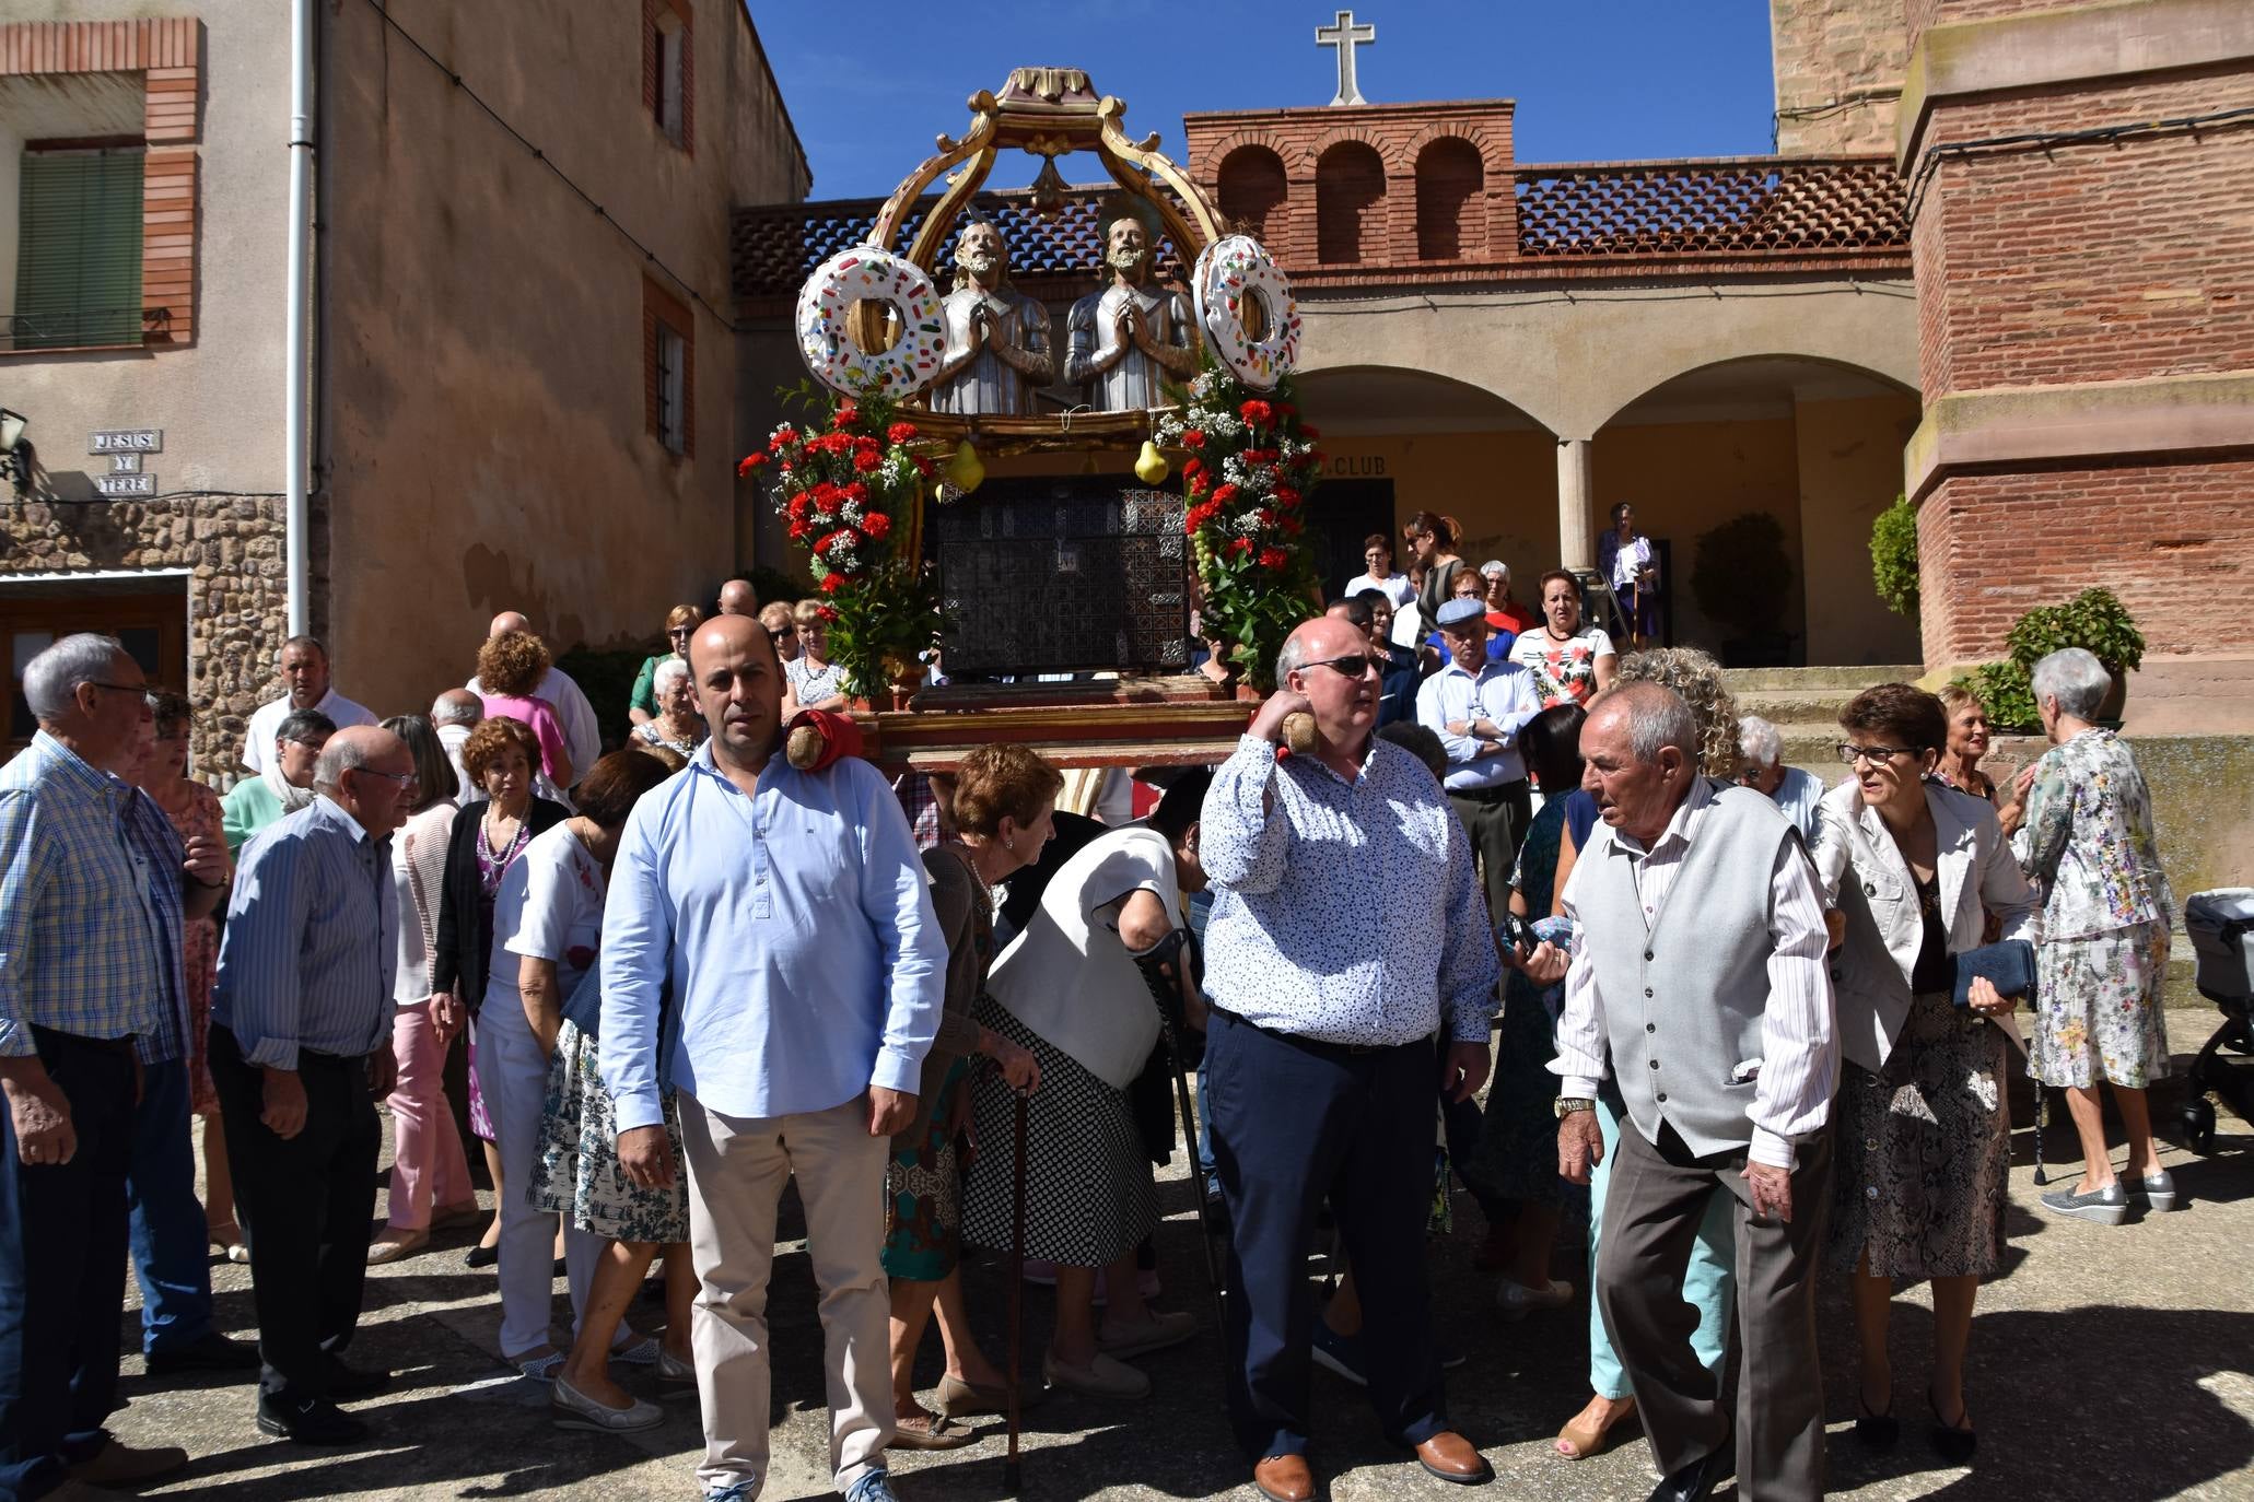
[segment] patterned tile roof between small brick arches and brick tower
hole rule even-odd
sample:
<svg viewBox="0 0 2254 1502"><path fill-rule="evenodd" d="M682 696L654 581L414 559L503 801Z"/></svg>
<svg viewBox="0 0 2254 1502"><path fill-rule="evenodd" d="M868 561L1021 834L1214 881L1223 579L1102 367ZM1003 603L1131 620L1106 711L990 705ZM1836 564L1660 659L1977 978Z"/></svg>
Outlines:
<svg viewBox="0 0 2254 1502"><path fill-rule="evenodd" d="M1887 160L1600 162L1517 173L1521 257L1902 250Z"/></svg>

